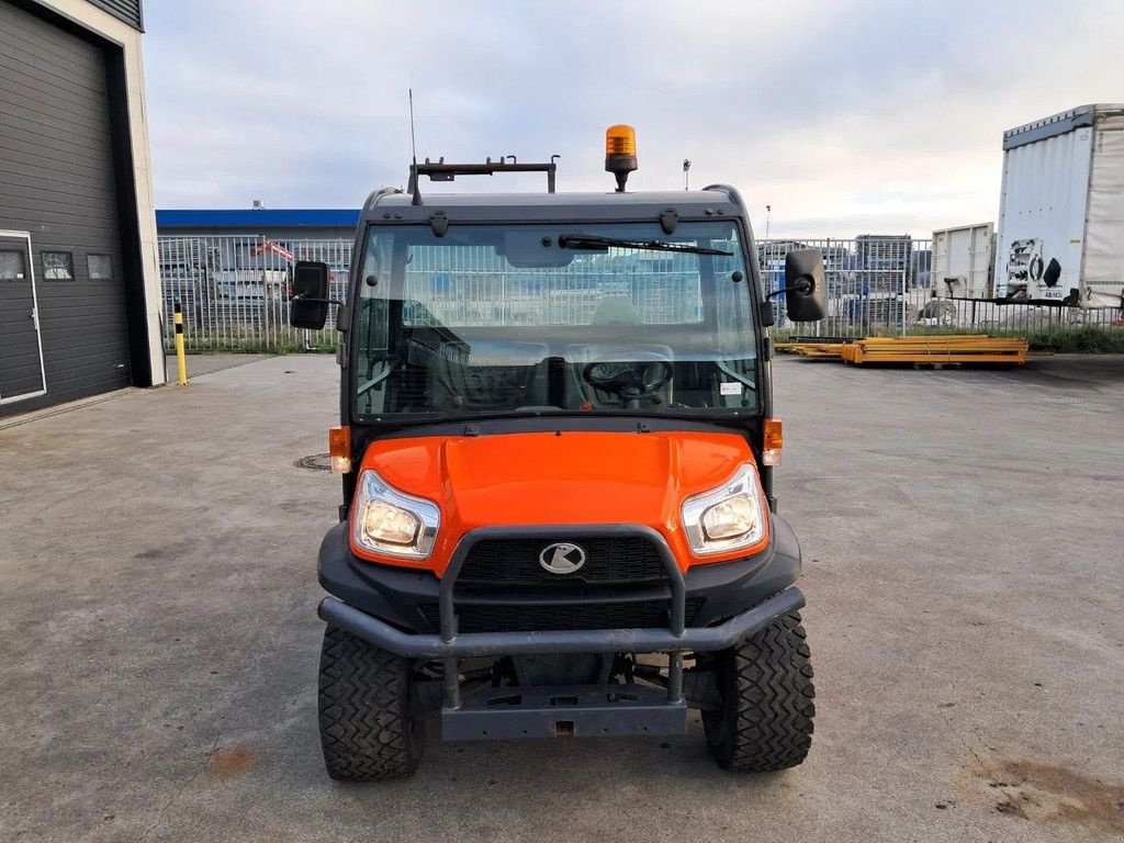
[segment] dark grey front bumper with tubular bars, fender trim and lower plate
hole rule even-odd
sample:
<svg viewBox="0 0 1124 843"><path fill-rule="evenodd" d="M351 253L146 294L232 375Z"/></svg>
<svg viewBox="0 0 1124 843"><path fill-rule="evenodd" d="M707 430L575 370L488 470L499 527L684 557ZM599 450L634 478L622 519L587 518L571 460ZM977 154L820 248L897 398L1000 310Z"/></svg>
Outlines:
<svg viewBox="0 0 1124 843"><path fill-rule="evenodd" d="M320 602L320 617L396 655L444 662L442 731L445 740L544 737L551 735L682 734L687 731L683 697L683 653L714 652L734 646L778 617L804 606L795 587L800 572L800 547L791 528L773 516L772 541L759 554L733 562L699 565L683 574L663 536L637 525L563 527L492 527L477 529L457 544L445 575L379 565L356 559L347 541L347 525L334 527L320 546L319 577L334 595ZM667 601L667 625L597 629L459 629L459 607L495 600L522 601L558 608L566 606L550 589L545 593L510 589L454 593L469 551L495 538L568 540L643 536L656 547L664 581L641 589L611 589L577 597L628 605L628 600ZM653 590L655 593L652 593ZM562 593L562 592L556 592ZM437 624L423 610L436 600ZM622 601L624 600L624 604ZM687 605L697 607L690 625ZM552 615L552 617L558 615ZM607 685L578 688L517 688L462 694L459 660L473 656L542 653L668 653L667 690ZM495 698L496 695L499 698Z"/></svg>

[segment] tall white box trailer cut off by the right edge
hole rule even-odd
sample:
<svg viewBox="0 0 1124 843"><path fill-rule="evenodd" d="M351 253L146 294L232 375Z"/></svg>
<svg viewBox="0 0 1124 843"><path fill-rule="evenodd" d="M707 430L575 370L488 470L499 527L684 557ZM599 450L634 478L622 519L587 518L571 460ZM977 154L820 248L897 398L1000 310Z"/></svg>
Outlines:
<svg viewBox="0 0 1124 843"><path fill-rule="evenodd" d="M1003 151L996 297L1121 307L1124 105L1010 129Z"/></svg>

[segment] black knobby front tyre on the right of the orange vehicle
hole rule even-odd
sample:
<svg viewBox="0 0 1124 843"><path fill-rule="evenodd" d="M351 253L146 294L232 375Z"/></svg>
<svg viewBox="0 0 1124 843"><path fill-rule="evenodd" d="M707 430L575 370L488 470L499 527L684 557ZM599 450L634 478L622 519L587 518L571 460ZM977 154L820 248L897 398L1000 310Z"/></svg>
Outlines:
<svg viewBox="0 0 1124 843"><path fill-rule="evenodd" d="M796 767L812 746L816 690L799 613L718 654L723 704L703 711L710 753L737 772Z"/></svg>

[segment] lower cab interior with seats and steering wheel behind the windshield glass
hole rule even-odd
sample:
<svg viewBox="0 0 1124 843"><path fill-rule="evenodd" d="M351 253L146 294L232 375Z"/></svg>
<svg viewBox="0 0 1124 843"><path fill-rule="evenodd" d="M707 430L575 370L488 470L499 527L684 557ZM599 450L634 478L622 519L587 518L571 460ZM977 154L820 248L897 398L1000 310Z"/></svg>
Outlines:
<svg viewBox="0 0 1124 843"><path fill-rule="evenodd" d="M366 309L402 302L369 299ZM370 315L369 315L370 316ZM755 360L723 353L708 323L649 325L627 296L607 296L588 325L456 327L409 325L384 346L360 342L356 409L362 415L471 415L507 410L641 410L653 414L756 405ZM360 315L359 329L378 321ZM713 325L713 323L711 323ZM589 366L627 368L652 386L629 401L590 382ZM595 371L593 374L599 372ZM670 377L667 377L669 375ZM661 382L662 381L662 382Z"/></svg>

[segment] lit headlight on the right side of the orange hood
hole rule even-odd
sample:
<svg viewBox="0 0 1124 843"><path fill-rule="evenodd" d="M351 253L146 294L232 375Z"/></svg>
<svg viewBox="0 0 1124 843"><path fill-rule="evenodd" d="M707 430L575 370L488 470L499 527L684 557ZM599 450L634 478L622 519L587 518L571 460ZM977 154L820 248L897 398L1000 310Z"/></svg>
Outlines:
<svg viewBox="0 0 1124 843"><path fill-rule="evenodd" d="M683 531L691 551L699 555L725 553L761 541L765 509L753 465L742 465L714 491L683 501Z"/></svg>

